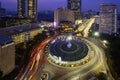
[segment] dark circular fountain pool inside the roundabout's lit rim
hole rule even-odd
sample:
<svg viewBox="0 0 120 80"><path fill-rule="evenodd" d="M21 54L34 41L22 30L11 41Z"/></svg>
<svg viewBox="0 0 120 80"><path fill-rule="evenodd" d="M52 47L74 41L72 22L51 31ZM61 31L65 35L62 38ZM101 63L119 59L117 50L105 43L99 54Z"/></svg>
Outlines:
<svg viewBox="0 0 120 80"><path fill-rule="evenodd" d="M69 40L69 37L72 39ZM51 56L61 58L62 61L77 61L84 58L88 53L88 47L83 41L74 36L58 37L49 45Z"/></svg>

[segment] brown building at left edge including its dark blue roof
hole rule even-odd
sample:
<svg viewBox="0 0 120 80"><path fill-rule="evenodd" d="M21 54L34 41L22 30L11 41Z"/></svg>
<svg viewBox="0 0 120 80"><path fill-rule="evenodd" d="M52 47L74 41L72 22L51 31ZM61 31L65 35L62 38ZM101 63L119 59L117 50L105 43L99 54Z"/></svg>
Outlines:
<svg viewBox="0 0 120 80"><path fill-rule="evenodd" d="M9 74L15 67L15 45L8 36L0 35L0 71L3 76Z"/></svg>

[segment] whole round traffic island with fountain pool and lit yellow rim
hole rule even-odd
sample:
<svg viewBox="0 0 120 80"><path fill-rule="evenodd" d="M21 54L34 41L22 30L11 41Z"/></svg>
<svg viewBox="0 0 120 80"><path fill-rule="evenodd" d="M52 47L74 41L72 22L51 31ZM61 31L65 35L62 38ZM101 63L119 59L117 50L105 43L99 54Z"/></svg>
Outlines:
<svg viewBox="0 0 120 80"><path fill-rule="evenodd" d="M93 57L92 47L84 38L61 35L49 42L45 48L47 60L61 67L78 67Z"/></svg>

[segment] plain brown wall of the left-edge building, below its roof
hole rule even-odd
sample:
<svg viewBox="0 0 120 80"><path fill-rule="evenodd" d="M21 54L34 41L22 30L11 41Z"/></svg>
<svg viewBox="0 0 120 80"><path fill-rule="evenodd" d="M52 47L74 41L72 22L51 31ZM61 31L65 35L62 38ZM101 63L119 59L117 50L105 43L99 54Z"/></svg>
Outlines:
<svg viewBox="0 0 120 80"><path fill-rule="evenodd" d="M0 70L4 75L10 73L15 67L15 45L14 43L0 46Z"/></svg>

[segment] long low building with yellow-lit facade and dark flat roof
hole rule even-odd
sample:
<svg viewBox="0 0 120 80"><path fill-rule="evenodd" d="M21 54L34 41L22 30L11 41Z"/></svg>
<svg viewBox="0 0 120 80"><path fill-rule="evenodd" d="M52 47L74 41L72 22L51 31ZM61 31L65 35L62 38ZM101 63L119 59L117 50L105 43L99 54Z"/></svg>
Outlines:
<svg viewBox="0 0 120 80"><path fill-rule="evenodd" d="M2 28L0 34L11 37L15 44L29 41L34 38L38 33L42 33L43 29L38 24L12 26Z"/></svg>

